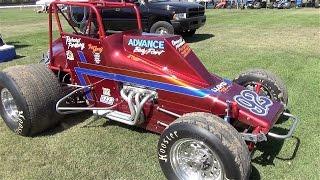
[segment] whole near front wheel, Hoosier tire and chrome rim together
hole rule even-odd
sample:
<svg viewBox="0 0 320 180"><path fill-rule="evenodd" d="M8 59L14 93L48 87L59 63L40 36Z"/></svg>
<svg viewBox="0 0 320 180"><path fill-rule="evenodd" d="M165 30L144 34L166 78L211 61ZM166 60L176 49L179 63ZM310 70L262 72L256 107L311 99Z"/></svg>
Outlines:
<svg viewBox="0 0 320 180"><path fill-rule="evenodd" d="M167 179L247 179L248 148L223 119L208 113L184 115L158 143L160 166Z"/></svg>

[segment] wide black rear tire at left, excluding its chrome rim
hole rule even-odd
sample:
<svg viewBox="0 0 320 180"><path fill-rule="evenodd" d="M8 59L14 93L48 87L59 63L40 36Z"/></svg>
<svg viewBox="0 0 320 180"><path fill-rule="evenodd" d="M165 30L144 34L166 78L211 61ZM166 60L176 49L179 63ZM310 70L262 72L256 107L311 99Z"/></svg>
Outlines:
<svg viewBox="0 0 320 180"><path fill-rule="evenodd" d="M0 92L7 89L21 112L18 122L4 110L0 114L7 126L22 136L33 136L56 125L62 116L56 102L65 93L54 73L43 64L9 67L0 72Z"/></svg>

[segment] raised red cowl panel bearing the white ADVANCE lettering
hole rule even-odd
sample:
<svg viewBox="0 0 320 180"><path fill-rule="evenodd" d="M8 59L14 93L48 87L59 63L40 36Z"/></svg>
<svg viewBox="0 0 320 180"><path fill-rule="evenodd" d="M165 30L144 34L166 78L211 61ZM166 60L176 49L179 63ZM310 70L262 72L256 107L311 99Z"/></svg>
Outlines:
<svg viewBox="0 0 320 180"><path fill-rule="evenodd" d="M123 47L132 57L171 79L194 82L197 88L207 88L213 83L211 74L181 36L124 35Z"/></svg>

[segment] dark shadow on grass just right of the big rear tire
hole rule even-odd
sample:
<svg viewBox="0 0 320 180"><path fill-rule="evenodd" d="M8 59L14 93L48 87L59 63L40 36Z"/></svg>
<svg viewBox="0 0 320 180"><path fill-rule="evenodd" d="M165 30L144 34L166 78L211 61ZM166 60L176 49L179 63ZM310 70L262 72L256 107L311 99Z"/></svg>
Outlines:
<svg viewBox="0 0 320 180"><path fill-rule="evenodd" d="M67 115L58 126L52 129L49 129L37 136L39 137L52 136L52 135L58 134L62 131L72 128L73 126L79 123L84 122L85 120L89 119L91 116L92 116L92 112L90 111L85 111L85 112L77 113L73 115Z"/></svg>

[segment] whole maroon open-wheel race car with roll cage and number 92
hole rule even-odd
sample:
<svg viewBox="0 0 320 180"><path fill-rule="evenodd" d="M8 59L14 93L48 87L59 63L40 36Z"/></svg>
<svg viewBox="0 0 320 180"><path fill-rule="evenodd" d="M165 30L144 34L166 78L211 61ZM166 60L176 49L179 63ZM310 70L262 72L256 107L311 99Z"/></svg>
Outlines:
<svg viewBox="0 0 320 180"><path fill-rule="evenodd" d="M136 30L111 32L101 15L107 8L135 11ZM181 36L142 33L134 4L55 1L49 39L45 63L0 73L0 113L17 134L92 111L161 134L158 158L168 179L247 179L255 144L289 138L297 126L275 75L210 73ZM270 132L282 116L292 120L288 133Z"/></svg>

